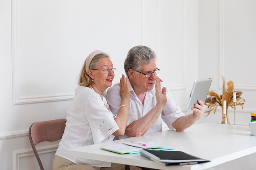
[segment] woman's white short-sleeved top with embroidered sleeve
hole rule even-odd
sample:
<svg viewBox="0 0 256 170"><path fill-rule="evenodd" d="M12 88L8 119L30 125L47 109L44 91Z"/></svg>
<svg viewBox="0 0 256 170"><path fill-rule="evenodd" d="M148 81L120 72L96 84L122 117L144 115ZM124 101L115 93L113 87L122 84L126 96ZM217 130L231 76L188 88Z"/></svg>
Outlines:
<svg viewBox="0 0 256 170"><path fill-rule="evenodd" d="M77 86L75 96L67 110L67 123L56 155L74 163L110 167L111 163L67 156L67 150L112 141L118 130L105 97L93 89Z"/></svg>

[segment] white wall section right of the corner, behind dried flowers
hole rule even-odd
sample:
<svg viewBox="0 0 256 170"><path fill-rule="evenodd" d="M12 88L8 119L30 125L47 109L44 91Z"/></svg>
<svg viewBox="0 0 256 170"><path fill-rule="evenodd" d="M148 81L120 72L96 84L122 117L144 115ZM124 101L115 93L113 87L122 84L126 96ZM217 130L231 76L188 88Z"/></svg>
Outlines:
<svg viewBox="0 0 256 170"><path fill-rule="evenodd" d="M236 124L246 125L256 112L256 0L198 1L198 76L213 77L210 90L222 94L222 79L243 91L244 109L236 107ZM221 108L198 121L218 123ZM234 109L228 109L234 124Z"/></svg>

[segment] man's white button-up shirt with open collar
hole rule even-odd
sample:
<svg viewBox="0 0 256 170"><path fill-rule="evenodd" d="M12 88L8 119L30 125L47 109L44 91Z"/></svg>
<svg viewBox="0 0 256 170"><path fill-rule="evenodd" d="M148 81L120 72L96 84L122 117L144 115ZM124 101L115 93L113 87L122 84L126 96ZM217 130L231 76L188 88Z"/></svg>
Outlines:
<svg viewBox="0 0 256 170"><path fill-rule="evenodd" d="M131 99L130 99L130 113L128 119L128 125L131 124L133 121L140 119L141 117L145 116L155 105L157 104L157 100L155 97L155 86L152 90L146 92L146 96L144 99L144 105L141 103L137 95L135 94L130 81L129 87L131 92ZM166 84L161 82L161 88L166 87L166 98L167 103L162 111L162 114L158 117L155 124L146 132L146 134L153 133L153 132L160 132L162 131L162 119L167 124L169 129L173 129L171 125L175 120L179 117L184 116L185 114L181 112L180 107L174 102L171 92L168 90ZM106 99L110 106L110 111L115 115L119 112L119 106L121 104L121 97L119 95L120 86L119 83L115 84L111 88L108 89ZM124 135L119 137L123 139L127 137Z"/></svg>

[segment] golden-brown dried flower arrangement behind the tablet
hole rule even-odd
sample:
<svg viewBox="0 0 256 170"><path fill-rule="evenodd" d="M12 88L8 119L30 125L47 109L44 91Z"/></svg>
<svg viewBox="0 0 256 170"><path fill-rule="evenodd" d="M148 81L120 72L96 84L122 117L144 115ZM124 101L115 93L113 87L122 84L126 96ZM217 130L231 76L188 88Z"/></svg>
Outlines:
<svg viewBox="0 0 256 170"><path fill-rule="evenodd" d="M234 91L234 82L229 80L227 82L227 86L225 86L225 78L222 76L223 80L223 87L222 87L222 95L220 95L217 91L209 91L207 98L205 100L205 105L207 108L209 108L208 111L205 111L205 113L208 113L205 117L207 117L211 111L213 111L213 114L216 113L217 106L222 107L222 114L223 114L223 101L227 101L227 108L231 106L231 108L235 109L235 106L239 105L243 109L243 104L245 103L245 99L241 98L242 91L236 90ZM233 103L233 92L236 92L236 105ZM227 110L226 110L227 113Z"/></svg>

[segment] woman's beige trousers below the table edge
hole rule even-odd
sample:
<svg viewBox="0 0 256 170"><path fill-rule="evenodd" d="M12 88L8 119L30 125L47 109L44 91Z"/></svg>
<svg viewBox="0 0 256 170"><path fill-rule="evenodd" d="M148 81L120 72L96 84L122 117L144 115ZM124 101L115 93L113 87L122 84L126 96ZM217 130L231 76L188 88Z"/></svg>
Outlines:
<svg viewBox="0 0 256 170"><path fill-rule="evenodd" d="M111 167L97 167L73 163L72 161L55 155L52 163L52 170L125 170L125 165L112 163ZM130 166L130 170L141 170L141 168Z"/></svg>

